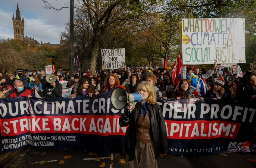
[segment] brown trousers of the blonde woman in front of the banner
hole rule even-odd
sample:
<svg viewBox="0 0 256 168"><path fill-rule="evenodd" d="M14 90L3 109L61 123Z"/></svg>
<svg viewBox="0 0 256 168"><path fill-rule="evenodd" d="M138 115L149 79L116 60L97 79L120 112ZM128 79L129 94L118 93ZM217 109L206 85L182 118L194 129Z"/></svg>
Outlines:
<svg viewBox="0 0 256 168"><path fill-rule="evenodd" d="M126 155L127 160L129 156ZM154 141L143 143L141 140L136 142L134 159L128 161L130 168L157 168L157 158L155 153Z"/></svg>

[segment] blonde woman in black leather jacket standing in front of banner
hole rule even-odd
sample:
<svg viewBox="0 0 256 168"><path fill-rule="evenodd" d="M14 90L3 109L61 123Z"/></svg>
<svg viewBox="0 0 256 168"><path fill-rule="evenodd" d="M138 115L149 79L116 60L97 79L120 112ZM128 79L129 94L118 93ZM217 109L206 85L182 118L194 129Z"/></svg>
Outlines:
<svg viewBox="0 0 256 168"><path fill-rule="evenodd" d="M125 134L128 166L156 168L160 154L168 152L164 117L156 103L155 88L150 82L141 82L136 93L141 95L141 102L135 106L128 104L126 112L119 119L121 127L129 125Z"/></svg>

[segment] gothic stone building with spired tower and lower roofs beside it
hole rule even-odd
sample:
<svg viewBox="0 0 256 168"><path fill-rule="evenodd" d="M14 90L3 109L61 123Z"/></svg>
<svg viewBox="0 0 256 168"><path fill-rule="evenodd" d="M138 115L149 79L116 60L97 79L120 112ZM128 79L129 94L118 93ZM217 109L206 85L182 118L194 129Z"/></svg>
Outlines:
<svg viewBox="0 0 256 168"><path fill-rule="evenodd" d="M12 14L12 24L13 24L14 39L23 40L24 42L27 43L28 46L30 46L32 42L34 42L37 46L40 46L43 44L42 40L41 40L41 43L39 43L37 40L34 39L34 37L29 38L28 36L24 36L24 18L22 16L22 20L21 20L18 4L17 4L15 18L14 18L14 14ZM44 44L48 46L60 46L60 44L51 44L50 42L44 43Z"/></svg>

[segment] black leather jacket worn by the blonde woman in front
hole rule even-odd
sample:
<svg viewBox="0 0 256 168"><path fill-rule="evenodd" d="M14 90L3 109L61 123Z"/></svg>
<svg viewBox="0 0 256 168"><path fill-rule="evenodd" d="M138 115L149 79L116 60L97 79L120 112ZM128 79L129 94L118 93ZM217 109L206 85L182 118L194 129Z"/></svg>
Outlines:
<svg viewBox="0 0 256 168"><path fill-rule="evenodd" d="M129 125L125 134L125 152L129 156L129 161L132 161L135 155L137 122L141 115L140 108L140 103L137 103L130 116L129 112L126 111L119 119L121 127ZM167 154L168 152L166 126L162 111L157 103L148 104L148 111L151 113L150 126L155 143L156 157L158 159L161 153Z"/></svg>

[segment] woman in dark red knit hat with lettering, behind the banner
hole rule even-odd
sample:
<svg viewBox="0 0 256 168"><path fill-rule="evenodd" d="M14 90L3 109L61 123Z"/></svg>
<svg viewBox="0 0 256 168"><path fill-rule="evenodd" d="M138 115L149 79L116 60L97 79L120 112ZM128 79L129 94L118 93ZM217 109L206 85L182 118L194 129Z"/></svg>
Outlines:
<svg viewBox="0 0 256 168"><path fill-rule="evenodd" d="M228 88L224 87L225 81L222 79L217 79L214 82L213 87L208 90L205 94L204 98L211 98L214 100L221 99L221 100L228 100L231 101L231 94Z"/></svg>

